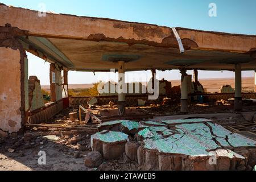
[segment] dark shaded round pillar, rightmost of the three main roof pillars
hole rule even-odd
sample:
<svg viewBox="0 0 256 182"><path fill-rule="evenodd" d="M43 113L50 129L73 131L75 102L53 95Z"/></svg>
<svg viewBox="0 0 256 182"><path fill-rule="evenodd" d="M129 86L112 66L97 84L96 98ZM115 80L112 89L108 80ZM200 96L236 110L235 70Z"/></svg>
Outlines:
<svg viewBox="0 0 256 182"><path fill-rule="evenodd" d="M235 101L234 110L242 110L242 67L235 65Z"/></svg>

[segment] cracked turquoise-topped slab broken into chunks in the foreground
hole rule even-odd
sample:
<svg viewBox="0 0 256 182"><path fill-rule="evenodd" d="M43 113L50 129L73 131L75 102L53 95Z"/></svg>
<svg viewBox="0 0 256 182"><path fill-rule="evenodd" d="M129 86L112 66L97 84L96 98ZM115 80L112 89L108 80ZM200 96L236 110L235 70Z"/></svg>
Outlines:
<svg viewBox="0 0 256 182"><path fill-rule="evenodd" d="M98 129L92 151L104 160L137 162L144 170L251 170L256 164L254 140L209 119L120 120Z"/></svg>

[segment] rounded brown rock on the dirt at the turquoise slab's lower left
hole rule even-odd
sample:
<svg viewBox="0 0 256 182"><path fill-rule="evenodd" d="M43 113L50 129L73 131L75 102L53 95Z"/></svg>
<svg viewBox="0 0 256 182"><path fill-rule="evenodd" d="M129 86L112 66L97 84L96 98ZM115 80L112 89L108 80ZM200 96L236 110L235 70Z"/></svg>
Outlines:
<svg viewBox="0 0 256 182"><path fill-rule="evenodd" d="M87 167L98 167L102 164L102 162L102 155L98 151L89 152L84 160L84 164Z"/></svg>

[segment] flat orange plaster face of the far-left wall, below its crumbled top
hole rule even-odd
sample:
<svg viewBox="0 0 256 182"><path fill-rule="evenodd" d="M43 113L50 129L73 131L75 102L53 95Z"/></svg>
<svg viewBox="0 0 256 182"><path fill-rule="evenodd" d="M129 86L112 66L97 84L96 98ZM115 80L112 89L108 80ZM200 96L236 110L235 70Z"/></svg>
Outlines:
<svg viewBox="0 0 256 182"><path fill-rule="evenodd" d="M18 132L22 127L19 50L0 47L0 73L0 131Z"/></svg>

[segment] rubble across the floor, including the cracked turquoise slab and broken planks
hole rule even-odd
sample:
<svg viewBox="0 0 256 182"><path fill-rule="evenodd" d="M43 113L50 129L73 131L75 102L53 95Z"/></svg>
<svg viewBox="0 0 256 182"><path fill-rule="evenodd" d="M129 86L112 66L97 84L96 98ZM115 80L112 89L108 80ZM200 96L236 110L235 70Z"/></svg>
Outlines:
<svg viewBox="0 0 256 182"><path fill-rule="evenodd" d="M138 110L143 111L140 107ZM254 112L240 114L239 118L227 116L226 120L221 118L216 121L199 117L134 120L109 118L107 122L102 119L100 123L94 119L95 123L85 124L78 123L79 119L74 122L69 120L72 111L79 115L78 110L73 109L67 114L57 115L55 123L26 125L28 131L23 136L13 135L14 139L3 140L3 153L25 159L29 153L34 152L36 156L38 151L48 151L48 147L54 144L56 149L53 147L52 151L57 150L53 152L57 154L47 154L49 158L67 158L63 162L70 158L70 163L75 161L80 168L93 171L251 171L256 164L255 139L251 137L252 134L248 134L255 133ZM97 115L93 110L90 112ZM82 111L81 116L83 121L86 112ZM238 120L242 123L237 123ZM225 123L226 129L217 123ZM209 164L209 159L213 157L216 157L216 165ZM76 163L72 165L78 165Z"/></svg>

